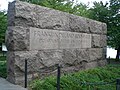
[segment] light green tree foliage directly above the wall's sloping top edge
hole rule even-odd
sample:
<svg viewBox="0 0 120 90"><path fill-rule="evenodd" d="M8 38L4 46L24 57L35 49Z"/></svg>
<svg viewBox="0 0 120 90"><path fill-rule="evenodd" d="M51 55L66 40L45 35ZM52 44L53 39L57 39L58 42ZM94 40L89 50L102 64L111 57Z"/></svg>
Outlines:
<svg viewBox="0 0 120 90"><path fill-rule="evenodd" d="M74 3L74 0L21 0L27 1L33 4L53 8L56 10L68 12L78 16L88 17L88 6L83 3Z"/></svg>

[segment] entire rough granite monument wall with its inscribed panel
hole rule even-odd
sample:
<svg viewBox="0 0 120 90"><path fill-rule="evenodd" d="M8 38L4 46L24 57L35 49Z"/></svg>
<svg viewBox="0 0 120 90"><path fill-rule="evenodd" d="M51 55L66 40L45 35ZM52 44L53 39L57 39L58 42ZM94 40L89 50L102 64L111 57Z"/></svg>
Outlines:
<svg viewBox="0 0 120 90"><path fill-rule="evenodd" d="M46 47L50 44L46 42L44 48L31 49L34 46L30 47L30 43L33 41L31 40L31 27L37 28L41 32L45 30L46 35L48 31L54 30L56 32L54 38L55 40L58 38L58 41L63 43L62 48L55 48L55 43L52 42L52 48L48 49ZM59 32L65 32L66 35L57 36L60 35ZM25 60L28 61L28 81L36 77L44 78L51 74L56 75L58 64L61 65L62 73L104 66L106 64L106 33L107 26L104 23L38 5L14 1L9 4L8 9L7 79L12 83L24 85ZM48 40L51 37L43 39ZM38 37L38 39L41 38L41 36ZM72 42L68 43L65 40ZM81 40L81 43L75 43L77 40ZM71 47L67 48L66 46L69 44Z"/></svg>

